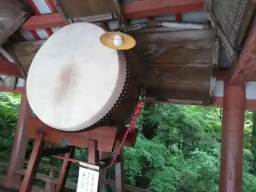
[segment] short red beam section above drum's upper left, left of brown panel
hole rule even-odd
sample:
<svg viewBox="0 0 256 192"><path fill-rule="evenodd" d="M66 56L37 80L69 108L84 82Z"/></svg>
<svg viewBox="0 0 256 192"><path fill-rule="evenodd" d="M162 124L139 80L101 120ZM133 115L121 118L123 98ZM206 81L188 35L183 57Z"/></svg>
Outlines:
<svg viewBox="0 0 256 192"><path fill-rule="evenodd" d="M59 13L47 15L35 15L30 17L25 24L20 28L21 30L47 29L52 27L66 26L65 21Z"/></svg>

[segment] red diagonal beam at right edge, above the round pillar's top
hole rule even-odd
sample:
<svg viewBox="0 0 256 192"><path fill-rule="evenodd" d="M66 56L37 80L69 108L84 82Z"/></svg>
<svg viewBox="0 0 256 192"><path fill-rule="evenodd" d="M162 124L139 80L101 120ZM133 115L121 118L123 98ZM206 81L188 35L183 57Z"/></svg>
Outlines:
<svg viewBox="0 0 256 192"><path fill-rule="evenodd" d="M238 61L234 61L230 84L243 86L256 74L256 19Z"/></svg>

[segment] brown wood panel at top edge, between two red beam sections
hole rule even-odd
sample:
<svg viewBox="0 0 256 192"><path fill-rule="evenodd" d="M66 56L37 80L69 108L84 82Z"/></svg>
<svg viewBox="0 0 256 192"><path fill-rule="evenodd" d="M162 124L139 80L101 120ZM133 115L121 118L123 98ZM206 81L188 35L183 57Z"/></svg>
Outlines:
<svg viewBox="0 0 256 192"><path fill-rule="evenodd" d="M116 0L58 0L68 18L118 13ZM117 1L116 1L117 2Z"/></svg>

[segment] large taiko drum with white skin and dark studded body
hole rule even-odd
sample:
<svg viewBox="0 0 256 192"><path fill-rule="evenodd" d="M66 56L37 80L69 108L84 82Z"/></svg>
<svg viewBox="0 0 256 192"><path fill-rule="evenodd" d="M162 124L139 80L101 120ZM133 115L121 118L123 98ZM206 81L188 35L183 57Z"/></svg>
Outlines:
<svg viewBox="0 0 256 192"><path fill-rule="evenodd" d="M105 47L106 31L76 23L54 33L35 55L27 78L31 109L54 129L78 132L119 126L136 108L140 62L133 50Z"/></svg>

